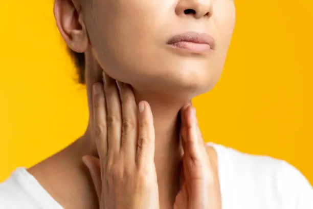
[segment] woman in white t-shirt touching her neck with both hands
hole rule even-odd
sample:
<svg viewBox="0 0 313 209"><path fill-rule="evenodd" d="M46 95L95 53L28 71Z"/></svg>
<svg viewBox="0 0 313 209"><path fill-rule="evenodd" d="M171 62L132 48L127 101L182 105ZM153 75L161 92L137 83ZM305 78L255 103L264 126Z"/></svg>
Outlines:
<svg viewBox="0 0 313 209"><path fill-rule="evenodd" d="M197 128L190 100L221 74L232 0L55 0L54 13L84 53L90 121L2 183L0 208L313 208L293 166L206 145Z"/></svg>

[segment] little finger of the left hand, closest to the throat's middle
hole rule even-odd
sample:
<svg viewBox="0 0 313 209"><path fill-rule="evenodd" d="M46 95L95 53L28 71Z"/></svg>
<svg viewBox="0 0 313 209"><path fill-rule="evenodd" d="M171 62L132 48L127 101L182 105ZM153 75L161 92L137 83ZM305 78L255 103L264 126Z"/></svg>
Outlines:
<svg viewBox="0 0 313 209"><path fill-rule="evenodd" d="M139 166L154 163L154 126L149 103L139 102L139 136L136 162Z"/></svg>

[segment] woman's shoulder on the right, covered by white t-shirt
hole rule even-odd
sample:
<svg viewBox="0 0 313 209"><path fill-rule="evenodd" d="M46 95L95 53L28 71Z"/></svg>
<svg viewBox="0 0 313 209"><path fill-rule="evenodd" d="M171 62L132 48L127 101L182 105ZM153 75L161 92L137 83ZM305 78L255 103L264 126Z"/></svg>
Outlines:
<svg viewBox="0 0 313 209"><path fill-rule="evenodd" d="M264 205L254 208L313 208L312 186L293 165L219 144L208 145L216 152L221 192L229 202Z"/></svg>

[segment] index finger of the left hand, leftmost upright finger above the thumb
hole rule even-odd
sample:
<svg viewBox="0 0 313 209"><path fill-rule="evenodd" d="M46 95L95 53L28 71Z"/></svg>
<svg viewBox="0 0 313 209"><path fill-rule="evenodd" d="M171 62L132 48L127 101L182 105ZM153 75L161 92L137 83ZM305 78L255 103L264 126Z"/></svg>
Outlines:
<svg viewBox="0 0 313 209"><path fill-rule="evenodd" d="M99 157L105 159L107 154L106 107L102 83L93 86L94 137Z"/></svg>

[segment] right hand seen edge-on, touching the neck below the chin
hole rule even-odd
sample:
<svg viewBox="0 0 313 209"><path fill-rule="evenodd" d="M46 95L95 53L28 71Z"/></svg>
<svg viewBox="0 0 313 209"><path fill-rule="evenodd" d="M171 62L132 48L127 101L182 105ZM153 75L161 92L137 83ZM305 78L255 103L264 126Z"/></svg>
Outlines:
<svg viewBox="0 0 313 209"><path fill-rule="evenodd" d="M174 209L221 209L217 167L207 153L195 109L186 105L181 110L181 117L183 169Z"/></svg>

